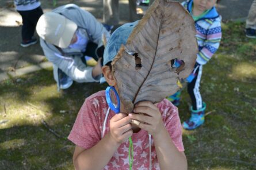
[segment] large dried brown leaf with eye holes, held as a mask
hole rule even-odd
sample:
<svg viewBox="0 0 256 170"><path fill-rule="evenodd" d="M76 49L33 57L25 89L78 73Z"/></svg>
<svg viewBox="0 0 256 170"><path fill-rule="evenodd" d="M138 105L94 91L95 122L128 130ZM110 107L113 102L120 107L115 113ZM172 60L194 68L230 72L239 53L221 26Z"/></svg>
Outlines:
<svg viewBox="0 0 256 170"><path fill-rule="evenodd" d="M177 80L188 77L196 61L195 35L194 21L184 7L155 0L112 62L127 112L137 102L161 102L178 90ZM174 59L183 60L184 67L171 67Z"/></svg>

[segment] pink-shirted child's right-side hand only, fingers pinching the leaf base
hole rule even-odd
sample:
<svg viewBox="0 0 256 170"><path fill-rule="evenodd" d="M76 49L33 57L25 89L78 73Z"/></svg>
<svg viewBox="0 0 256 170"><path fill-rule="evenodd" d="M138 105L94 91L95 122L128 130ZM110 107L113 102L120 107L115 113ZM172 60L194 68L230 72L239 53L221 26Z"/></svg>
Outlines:
<svg viewBox="0 0 256 170"><path fill-rule="evenodd" d="M162 130L165 129L165 125L163 125L161 113L153 103L151 102L139 102L135 105L135 109L133 109L134 113L130 113L129 117L131 119L136 119L139 121L139 127L141 129L146 130L152 136L155 136ZM139 114L143 113L143 114Z"/></svg>

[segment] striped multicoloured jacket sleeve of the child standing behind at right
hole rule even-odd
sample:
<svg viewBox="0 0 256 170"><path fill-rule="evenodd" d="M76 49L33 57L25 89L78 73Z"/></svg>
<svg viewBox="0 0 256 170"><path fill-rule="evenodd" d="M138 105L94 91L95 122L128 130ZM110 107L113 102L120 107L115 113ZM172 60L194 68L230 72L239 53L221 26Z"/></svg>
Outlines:
<svg viewBox="0 0 256 170"><path fill-rule="evenodd" d="M207 30L204 47L202 47L202 49L197 53L197 63L201 65L206 64L219 48L221 40L220 24L220 20L215 20Z"/></svg>

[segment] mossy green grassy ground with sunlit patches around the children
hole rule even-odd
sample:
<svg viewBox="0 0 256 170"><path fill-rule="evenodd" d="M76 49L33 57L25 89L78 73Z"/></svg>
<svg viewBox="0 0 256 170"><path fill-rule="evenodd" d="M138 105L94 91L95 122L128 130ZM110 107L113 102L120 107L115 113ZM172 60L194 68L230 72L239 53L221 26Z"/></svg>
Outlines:
<svg viewBox="0 0 256 170"><path fill-rule="evenodd" d="M256 40L244 24L223 24L223 41L204 67L205 124L184 131L189 169L256 169ZM66 139L85 98L106 84L75 83L57 92L52 70L0 83L0 169L73 169ZM179 113L189 117L182 92Z"/></svg>

